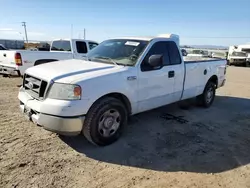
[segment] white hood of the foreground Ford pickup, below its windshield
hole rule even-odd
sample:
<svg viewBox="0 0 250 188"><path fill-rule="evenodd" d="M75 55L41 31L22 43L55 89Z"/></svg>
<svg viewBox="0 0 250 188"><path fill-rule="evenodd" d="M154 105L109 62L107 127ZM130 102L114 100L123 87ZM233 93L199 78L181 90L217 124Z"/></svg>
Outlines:
<svg viewBox="0 0 250 188"><path fill-rule="evenodd" d="M47 81L72 83L84 77L119 72L123 66L98 63L84 60L64 60L37 65L26 70L25 73Z"/></svg>

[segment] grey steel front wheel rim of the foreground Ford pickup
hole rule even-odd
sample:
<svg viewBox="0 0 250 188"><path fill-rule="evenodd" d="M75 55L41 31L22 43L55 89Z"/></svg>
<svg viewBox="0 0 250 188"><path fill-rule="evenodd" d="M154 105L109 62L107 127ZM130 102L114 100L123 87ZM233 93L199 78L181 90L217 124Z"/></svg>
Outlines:
<svg viewBox="0 0 250 188"><path fill-rule="evenodd" d="M110 137L116 133L121 123L121 115L115 110L111 109L101 115L98 123L98 131L103 137Z"/></svg>

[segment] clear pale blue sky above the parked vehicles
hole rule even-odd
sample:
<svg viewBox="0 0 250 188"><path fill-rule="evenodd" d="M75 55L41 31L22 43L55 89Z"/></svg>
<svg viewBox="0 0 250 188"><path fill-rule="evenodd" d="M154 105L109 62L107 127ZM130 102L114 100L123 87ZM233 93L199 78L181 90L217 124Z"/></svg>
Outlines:
<svg viewBox="0 0 250 188"><path fill-rule="evenodd" d="M83 38L174 33L186 45L250 42L250 0L0 0L0 38Z"/></svg>

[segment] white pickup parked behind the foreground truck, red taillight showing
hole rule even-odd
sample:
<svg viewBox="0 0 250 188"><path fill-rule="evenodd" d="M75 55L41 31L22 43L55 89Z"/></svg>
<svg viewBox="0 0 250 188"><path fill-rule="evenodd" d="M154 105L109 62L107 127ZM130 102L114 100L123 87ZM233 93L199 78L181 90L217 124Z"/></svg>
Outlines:
<svg viewBox="0 0 250 188"><path fill-rule="evenodd" d="M98 45L95 41L60 39L51 43L50 51L4 50L0 51L0 74L23 76L25 70L52 61L84 59L86 53Z"/></svg>

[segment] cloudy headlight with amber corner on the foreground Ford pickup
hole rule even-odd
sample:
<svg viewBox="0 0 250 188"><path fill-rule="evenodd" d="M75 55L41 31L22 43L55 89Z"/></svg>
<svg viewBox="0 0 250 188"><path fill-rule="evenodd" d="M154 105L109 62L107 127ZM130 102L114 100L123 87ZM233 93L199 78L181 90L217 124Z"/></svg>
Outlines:
<svg viewBox="0 0 250 188"><path fill-rule="evenodd" d="M82 89L74 84L53 83L48 98L59 100L80 100Z"/></svg>

